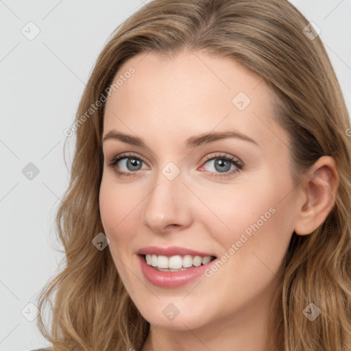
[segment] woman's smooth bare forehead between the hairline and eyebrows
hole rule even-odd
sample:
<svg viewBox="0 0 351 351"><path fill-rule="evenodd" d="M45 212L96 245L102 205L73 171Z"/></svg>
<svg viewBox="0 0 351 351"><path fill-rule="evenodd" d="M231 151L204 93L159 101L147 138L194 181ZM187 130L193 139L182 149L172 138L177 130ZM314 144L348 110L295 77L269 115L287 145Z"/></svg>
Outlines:
<svg viewBox="0 0 351 351"><path fill-rule="evenodd" d="M140 53L124 62L117 80L106 102L104 134L115 129L147 139L162 132L171 141L235 129L267 147L287 141L272 118L267 84L230 58L191 51L174 58Z"/></svg>

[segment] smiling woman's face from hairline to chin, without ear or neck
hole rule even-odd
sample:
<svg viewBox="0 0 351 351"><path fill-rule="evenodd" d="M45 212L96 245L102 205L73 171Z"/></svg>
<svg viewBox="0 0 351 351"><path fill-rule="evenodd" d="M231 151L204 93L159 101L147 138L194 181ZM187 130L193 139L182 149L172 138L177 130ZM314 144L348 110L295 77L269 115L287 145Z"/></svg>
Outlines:
<svg viewBox="0 0 351 351"><path fill-rule="evenodd" d="M99 204L134 304L174 330L267 315L297 215L288 134L268 86L233 60L188 51L139 54L117 79Z"/></svg>

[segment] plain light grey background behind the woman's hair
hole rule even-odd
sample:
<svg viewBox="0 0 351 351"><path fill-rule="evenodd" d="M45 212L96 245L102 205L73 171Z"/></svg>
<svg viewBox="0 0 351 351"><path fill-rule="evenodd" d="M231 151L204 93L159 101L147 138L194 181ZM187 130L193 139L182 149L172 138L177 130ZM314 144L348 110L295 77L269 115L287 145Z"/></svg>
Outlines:
<svg viewBox="0 0 351 351"><path fill-rule="evenodd" d="M291 2L322 29L350 111L351 0ZM141 0L0 0L0 351L47 345L36 319L24 315L35 315L28 304L62 259L53 221L69 182L63 131L110 34L142 6ZM21 32L29 32L29 21L40 29L33 40ZM68 139L70 167L74 136ZM29 162L39 169L32 180L22 173Z"/></svg>

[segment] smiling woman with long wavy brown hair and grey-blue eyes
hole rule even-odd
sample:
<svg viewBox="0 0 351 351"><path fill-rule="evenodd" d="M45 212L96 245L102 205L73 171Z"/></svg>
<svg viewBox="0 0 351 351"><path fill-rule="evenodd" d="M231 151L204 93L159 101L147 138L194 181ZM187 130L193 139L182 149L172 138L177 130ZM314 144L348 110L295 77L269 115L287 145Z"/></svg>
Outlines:
<svg viewBox="0 0 351 351"><path fill-rule="evenodd" d="M148 3L71 130L53 350L351 349L350 121L291 3Z"/></svg>

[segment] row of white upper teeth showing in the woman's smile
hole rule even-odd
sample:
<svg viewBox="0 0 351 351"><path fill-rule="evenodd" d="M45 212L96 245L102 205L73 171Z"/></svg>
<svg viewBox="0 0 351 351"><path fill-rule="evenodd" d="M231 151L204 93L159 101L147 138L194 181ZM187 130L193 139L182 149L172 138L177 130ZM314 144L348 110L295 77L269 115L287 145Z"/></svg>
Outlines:
<svg viewBox="0 0 351 351"><path fill-rule="evenodd" d="M206 265L211 261L212 256L191 256L191 255L175 255L171 257L158 256L154 254L146 254L146 263L152 267L159 268L160 271L178 271L190 267L199 267Z"/></svg>

